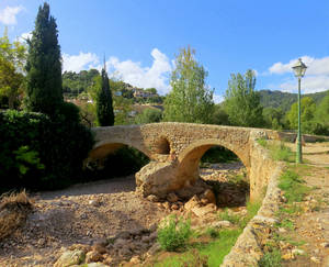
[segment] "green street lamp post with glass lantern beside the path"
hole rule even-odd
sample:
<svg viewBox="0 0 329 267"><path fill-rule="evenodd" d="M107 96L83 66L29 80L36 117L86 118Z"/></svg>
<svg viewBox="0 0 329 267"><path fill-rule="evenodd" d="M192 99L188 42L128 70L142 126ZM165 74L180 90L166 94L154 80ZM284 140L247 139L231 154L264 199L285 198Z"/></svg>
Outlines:
<svg viewBox="0 0 329 267"><path fill-rule="evenodd" d="M297 133L297 149L296 149L296 163L302 163L302 131L300 131L300 80L305 75L306 65L298 58L298 62L293 66L295 77L298 78L298 133Z"/></svg>

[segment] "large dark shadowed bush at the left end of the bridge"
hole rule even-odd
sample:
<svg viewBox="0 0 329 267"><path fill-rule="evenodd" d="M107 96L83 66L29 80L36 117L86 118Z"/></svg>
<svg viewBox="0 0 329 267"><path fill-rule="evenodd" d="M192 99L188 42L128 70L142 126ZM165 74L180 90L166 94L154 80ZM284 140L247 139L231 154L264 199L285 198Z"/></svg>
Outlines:
<svg viewBox="0 0 329 267"><path fill-rule="evenodd" d="M80 176L93 145L79 110L64 103L50 119L45 114L0 112L0 191L53 189Z"/></svg>

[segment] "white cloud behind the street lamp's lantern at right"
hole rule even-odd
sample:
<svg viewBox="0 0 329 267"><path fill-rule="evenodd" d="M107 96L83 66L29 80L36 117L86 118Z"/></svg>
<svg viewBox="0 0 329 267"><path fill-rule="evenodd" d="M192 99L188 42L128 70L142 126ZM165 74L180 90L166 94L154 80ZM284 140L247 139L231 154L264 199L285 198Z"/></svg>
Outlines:
<svg viewBox="0 0 329 267"><path fill-rule="evenodd" d="M284 75L291 73L288 80L280 84L276 88L282 91L296 92L297 80L293 78L292 67L298 60L294 58L288 63L275 63L269 68L269 74ZM305 77L302 80L303 93L319 92L329 89L329 57L315 58L303 56L302 60L307 66ZM275 86L271 86L272 88Z"/></svg>

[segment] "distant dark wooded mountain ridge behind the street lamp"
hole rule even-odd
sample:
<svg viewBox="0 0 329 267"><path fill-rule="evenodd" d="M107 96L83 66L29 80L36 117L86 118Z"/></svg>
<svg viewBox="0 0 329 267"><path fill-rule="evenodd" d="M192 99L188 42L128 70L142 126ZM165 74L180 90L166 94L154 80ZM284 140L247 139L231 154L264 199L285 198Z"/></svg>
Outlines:
<svg viewBox="0 0 329 267"><path fill-rule="evenodd" d="M284 112L291 109L291 105L297 101L297 93L260 90L261 104L264 108L281 108ZM310 97L318 104L321 99L329 93L328 91L306 93L303 97Z"/></svg>

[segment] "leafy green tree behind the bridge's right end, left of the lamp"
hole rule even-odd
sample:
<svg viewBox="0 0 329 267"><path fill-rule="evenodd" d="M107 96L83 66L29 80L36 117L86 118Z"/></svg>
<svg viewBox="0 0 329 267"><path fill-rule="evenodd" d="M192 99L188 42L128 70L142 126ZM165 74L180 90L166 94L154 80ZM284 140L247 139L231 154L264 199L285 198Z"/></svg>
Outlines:
<svg viewBox="0 0 329 267"><path fill-rule="evenodd" d="M254 86L256 77L251 69L247 70L245 75L231 75L224 107L232 125L247 127L263 125L263 108Z"/></svg>

